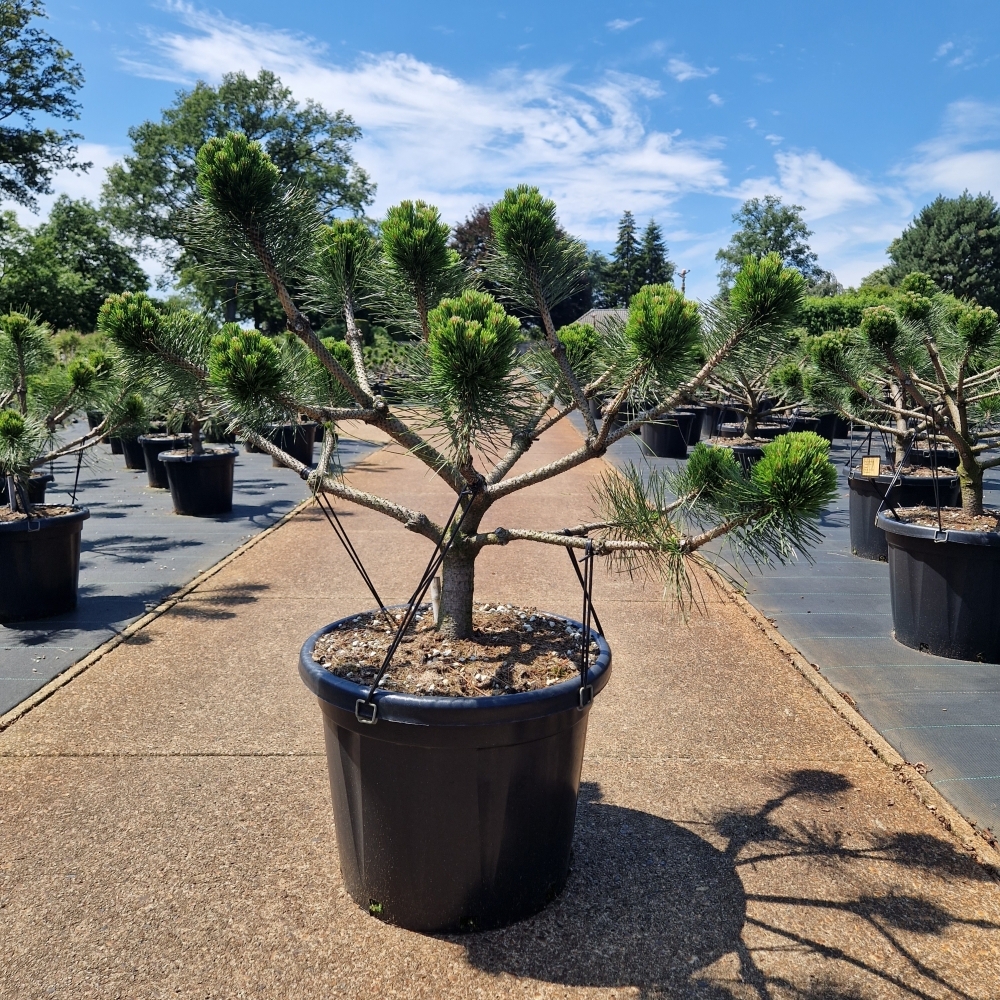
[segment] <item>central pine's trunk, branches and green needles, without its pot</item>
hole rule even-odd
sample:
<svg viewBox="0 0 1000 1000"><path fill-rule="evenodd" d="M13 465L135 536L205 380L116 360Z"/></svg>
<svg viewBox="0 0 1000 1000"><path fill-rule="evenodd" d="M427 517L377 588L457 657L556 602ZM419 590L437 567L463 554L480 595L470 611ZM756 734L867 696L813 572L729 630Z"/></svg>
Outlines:
<svg viewBox="0 0 1000 1000"><path fill-rule="evenodd" d="M643 422L709 390L738 351L744 366L767 356L761 345L787 336L802 297L801 277L777 256L748 258L724 301L700 307L669 283L652 284L632 297L627 321L615 329L557 331L552 311L585 282L587 250L535 187L512 187L493 206L492 234L473 273L449 246L438 210L424 202L403 201L377 225L326 224L238 134L208 143L198 169L202 201L187 245L207 274L266 281L287 330L198 330L190 317L141 296L110 299L102 329L129 371L197 399L315 489L433 542L451 538L441 581L445 633L471 635L474 565L488 546L592 544L620 568L672 581L685 603L689 564L713 539L730 535L758 560L789 558L815 540L833 473L825 445L809 435L769 445L750 477L728 451L705 448L695 449L680 478L609 474L597 498L600 520L587 525L490 523L504 497L600 458ZM366 346L365 331L379 327ZM534 444L574 411L583 437L566 432L565 454L532 462ZM268 420L296 416L353 419L382 431L462 495L461 530L326 468L304 467L257 433Z"/></svg>

